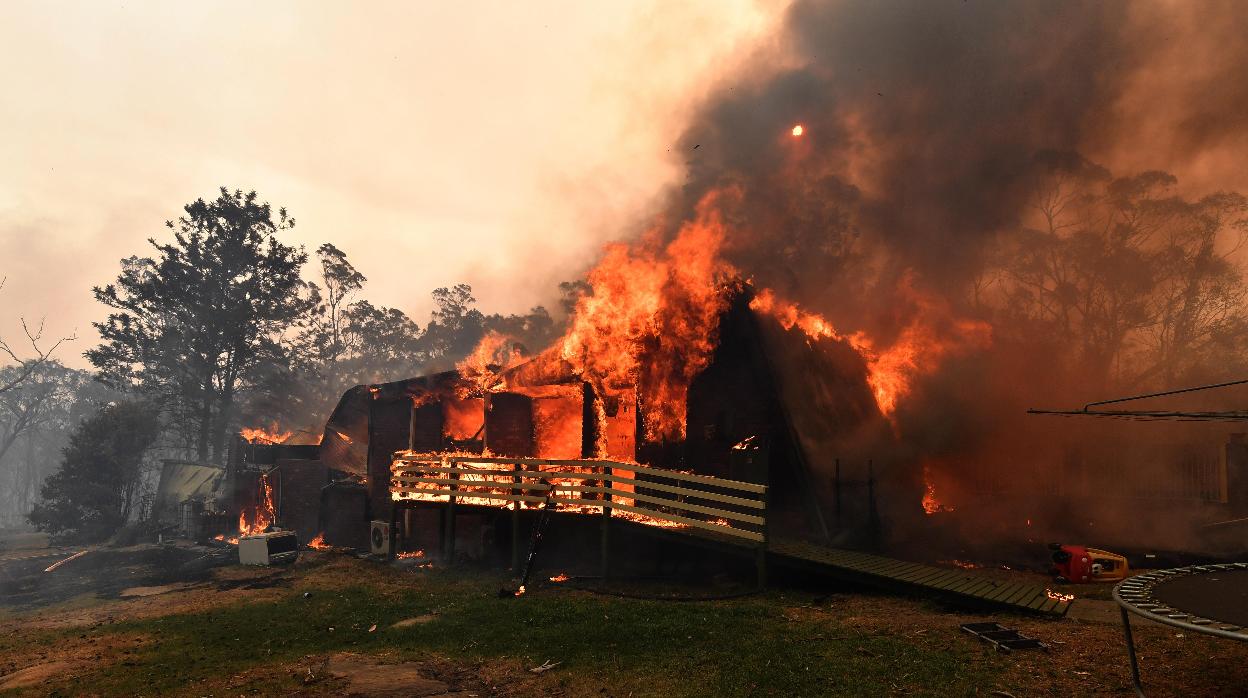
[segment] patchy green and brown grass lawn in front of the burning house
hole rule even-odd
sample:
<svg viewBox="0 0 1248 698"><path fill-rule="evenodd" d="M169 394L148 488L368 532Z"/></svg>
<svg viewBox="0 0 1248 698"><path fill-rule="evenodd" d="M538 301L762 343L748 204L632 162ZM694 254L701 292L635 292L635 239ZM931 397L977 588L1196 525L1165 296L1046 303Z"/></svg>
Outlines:
<svg viewBox="0 0 1248 698"><path fill-rule="evenodd" d="M0 624L0 674L55 667L15 689L37 694L342 693L346 681L326 662L352 653L416 662L462 696L1072 694L1092 672L1106 673L1098 689L1126 686L1114 627L1097 629L1090 647L1099 658L1080 672L1066 666L1087 659L1078 643L1000 656L957 631L983 617L910 599L775 589L668 602L555 584L498 598L494 571L396 569L326 553L276 573L222 574L268 583L217 581L85 614L22 614ZM54 622L57 613L69 622ZM1066 637L1071 623L995 618L1046 638ZM1166 634L1151 631L1144 647ZM529 671L545 662L558 664Z"/></svg>

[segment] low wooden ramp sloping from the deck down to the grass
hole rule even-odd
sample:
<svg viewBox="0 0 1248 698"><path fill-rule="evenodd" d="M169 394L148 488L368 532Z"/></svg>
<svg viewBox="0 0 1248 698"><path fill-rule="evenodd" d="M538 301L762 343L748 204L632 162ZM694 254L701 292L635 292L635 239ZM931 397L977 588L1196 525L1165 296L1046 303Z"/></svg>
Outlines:
<svg viewBox="0 0 1248 698"><path fill-rule="evenodd" d="M768 552L774 564L824 572L847 582L885 591L940 598L961 606L1002 608L1043 616L1066 616L1071 602L1045 587L991 579L966 569L946 569L877 554L827 548L800 541L773 538Z"/></svg>

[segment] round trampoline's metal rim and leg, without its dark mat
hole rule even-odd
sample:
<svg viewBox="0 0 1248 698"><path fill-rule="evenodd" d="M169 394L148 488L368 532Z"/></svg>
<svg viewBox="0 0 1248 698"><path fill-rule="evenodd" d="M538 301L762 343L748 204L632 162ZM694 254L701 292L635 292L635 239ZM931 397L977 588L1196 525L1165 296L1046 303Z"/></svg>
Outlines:
<svg viewBox="0 0 1248 698"><path fill-rule="evenodd" d="M1131 613L1147 618L1154 623L1182 628L1193 633L1204 633L1227 639L1248 642L1248 628L1234 623L1226 623L1213 618L1204 618L1194 613L1188 613L1182 608L1173 608L1153 598L1153 587L1159 582L1173 579L1187 574L1211 574L1216 572L1228 572L1248 569L1248 562L1228 562L1219 564L1193 564L1191 567L1177 567L1174 569L1158 569L1146 574L1137 574L1118 582L1113 587L1113 601L1122 613L1122 633L1127 641L1127 657L1131 659L1131 682L1136 687L1136 694L1143 696L1144 689L1139 682L1139 662L1136 658L1136 642L1131 634Z"/></svg>

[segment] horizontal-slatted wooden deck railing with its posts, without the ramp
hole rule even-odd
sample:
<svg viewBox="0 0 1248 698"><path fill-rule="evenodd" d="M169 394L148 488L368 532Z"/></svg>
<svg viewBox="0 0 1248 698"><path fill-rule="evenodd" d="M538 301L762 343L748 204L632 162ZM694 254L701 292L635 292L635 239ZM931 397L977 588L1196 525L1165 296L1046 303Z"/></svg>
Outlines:
<svg viewBox="0 0 1248 698"><path fill-rule="evenodd" d="M494 458L401 451L391 463L397 503L444 502L443 546L453 548L454 508L487 506L513 512L513 566L518 561L522 511L550 503L555 511L597 514L603 522L603 567L608 567L612 519L718 534L723 542L756 548L765 576L768 486L604 460ZM446 528L446 524L444 524Z"/></svg>

